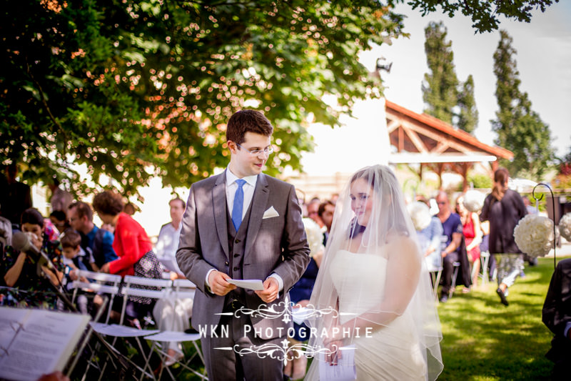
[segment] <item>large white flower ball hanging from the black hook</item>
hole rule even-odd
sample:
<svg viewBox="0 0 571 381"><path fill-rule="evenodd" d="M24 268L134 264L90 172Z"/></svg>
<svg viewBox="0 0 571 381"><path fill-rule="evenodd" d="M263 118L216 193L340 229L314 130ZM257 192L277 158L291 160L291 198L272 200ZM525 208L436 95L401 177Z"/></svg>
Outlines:
<svg viewBox="0 0 571 381"><path fill-rule="evenodd" d="M537 214L527 214L513 230L517 247L531 257L545 257L555 239L553 221Z"/></svg>

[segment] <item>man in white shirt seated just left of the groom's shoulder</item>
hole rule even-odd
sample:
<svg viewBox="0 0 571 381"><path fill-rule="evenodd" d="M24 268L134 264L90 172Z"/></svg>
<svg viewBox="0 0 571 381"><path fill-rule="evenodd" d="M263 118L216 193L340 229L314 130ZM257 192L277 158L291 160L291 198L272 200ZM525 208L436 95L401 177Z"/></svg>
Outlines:
<svg viewBox="0 0 571 381"><path fill-rule="evenodd" d="M156 256L161 263L170 271L176 272L182 276L181 270L176 264L176 249L178 249L178 238L181 236L185 202L178 197L168 202L171 207L171 222L161 227L156 242Z"/></svg>

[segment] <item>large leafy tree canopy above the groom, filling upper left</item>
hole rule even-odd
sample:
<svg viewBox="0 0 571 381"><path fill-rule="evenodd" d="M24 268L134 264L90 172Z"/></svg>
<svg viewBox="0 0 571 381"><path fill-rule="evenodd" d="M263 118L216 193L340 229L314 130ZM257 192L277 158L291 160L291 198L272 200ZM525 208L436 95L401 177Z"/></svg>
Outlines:
<svg viewBox="0 0 571 381"><path fill-rule="evenodd" d="M76 192L71 162L126 194L153 175L172 187L208 176L227 164L226 121L243 107L276 129L268 172L299 168L309 121L335 126L355 99L380 96L355 56L403 20L374 0L8 3L1 162Z"/></svg>

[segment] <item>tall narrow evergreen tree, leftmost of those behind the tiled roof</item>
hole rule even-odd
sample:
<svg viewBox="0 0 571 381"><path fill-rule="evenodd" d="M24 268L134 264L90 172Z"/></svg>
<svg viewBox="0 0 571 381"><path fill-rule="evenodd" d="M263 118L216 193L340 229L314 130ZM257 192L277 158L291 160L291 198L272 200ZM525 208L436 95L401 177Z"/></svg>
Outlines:
<svg viewBox="0 0 571 381"><path fill-rule="evenodd" d="M425 28L424 50L429 73L424 75L423 101L426 114L452 124L453 109L458 102L458 78L454 67L452 41L442 21L430 22Z"/></svg>

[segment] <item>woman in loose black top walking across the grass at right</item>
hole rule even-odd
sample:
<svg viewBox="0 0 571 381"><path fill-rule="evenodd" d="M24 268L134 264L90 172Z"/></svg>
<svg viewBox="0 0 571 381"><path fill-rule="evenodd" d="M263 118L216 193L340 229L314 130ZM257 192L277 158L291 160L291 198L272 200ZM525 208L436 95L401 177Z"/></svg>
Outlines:
<svg viewBox="0 0 571 381"><path fill-rule="evenodd" d="M522 197L507 189L507 169L500 168L494 173L492 193L488 194L480 221L490 221L490 254L497 262L497 295L503 305L508 305L507 288L510 287L523 269L523 255L515 244L513 229L527 210Z"/></svg>

